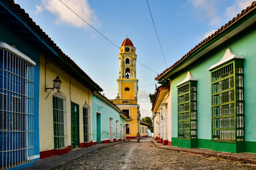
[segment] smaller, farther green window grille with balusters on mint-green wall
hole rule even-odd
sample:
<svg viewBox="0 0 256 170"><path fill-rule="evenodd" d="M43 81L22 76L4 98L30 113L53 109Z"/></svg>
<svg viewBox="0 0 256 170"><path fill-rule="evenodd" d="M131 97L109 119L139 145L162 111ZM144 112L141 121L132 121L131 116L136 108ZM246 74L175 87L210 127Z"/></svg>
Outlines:
<svg viewBox="0 0 256 170"><path fill-rule="evenodd" d="M185 84L178 85L177 87L178 138L187 140L197 138L196 81L189 80Z"/></svg>

